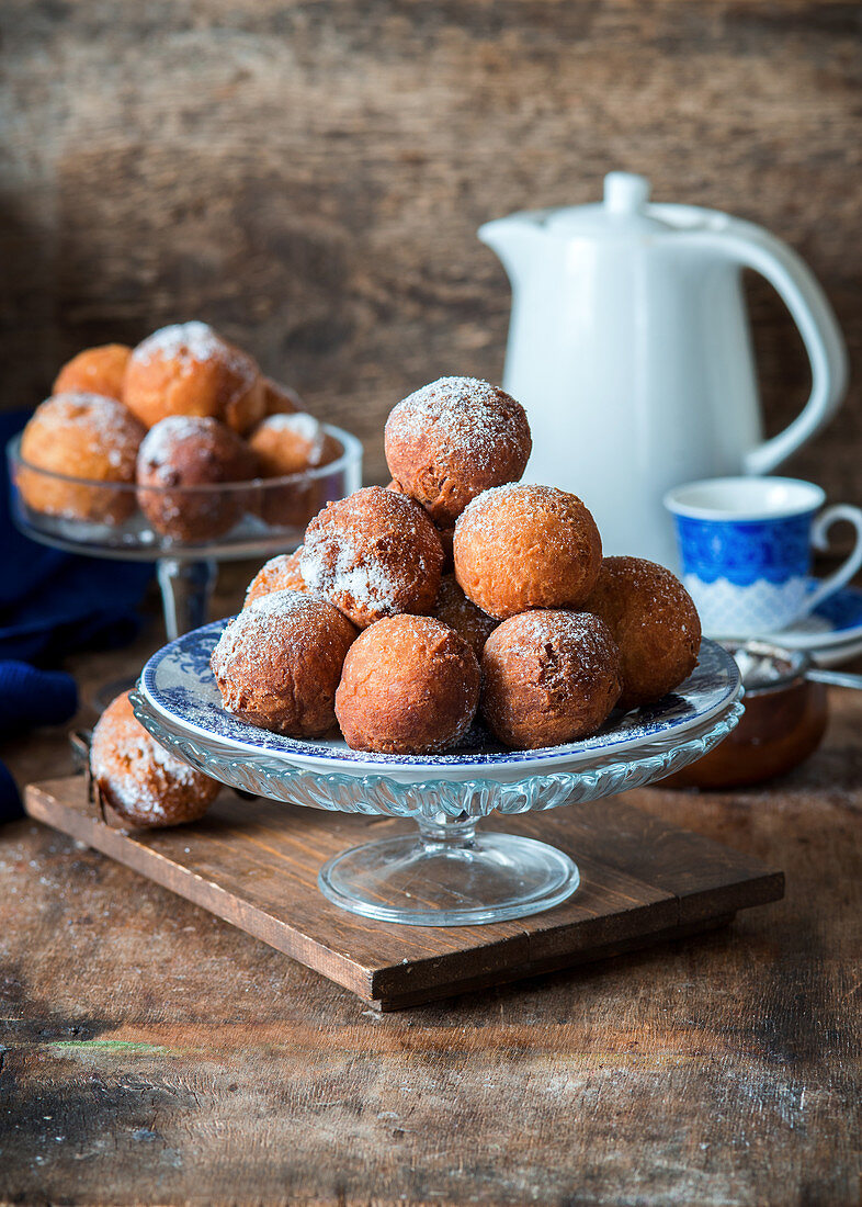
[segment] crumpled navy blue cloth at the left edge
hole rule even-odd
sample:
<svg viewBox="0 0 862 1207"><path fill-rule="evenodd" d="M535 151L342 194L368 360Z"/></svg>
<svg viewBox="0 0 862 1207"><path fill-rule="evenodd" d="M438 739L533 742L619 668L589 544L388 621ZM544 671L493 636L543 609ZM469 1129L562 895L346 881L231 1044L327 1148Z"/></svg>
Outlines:
<svg viewBox="0 0 862 1207"><path fill-rule="evenodd" d="M78 558L22 536L12 524L6 443L29 412L0 414L0 741L77 710L71 675L49 670L76 649L127 645L152 566ZM0 822L20 816L20 798L0 763Z"/></svg>

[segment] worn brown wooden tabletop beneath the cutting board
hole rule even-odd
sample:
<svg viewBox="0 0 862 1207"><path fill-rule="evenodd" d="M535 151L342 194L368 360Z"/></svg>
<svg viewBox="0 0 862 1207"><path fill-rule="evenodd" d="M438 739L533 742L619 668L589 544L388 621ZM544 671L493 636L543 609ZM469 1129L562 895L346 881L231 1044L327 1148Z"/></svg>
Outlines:
<svg viewBox="0 0 862 1207"><path fill-rule="evenodd" d="M134 670L78 658L86 686ZM786 870L715 935L379 1015L29 821L0 830L0 1200L854 1203L862 696L772 787L639 807ZM63 731L7 742L20 779Z"/></svg>

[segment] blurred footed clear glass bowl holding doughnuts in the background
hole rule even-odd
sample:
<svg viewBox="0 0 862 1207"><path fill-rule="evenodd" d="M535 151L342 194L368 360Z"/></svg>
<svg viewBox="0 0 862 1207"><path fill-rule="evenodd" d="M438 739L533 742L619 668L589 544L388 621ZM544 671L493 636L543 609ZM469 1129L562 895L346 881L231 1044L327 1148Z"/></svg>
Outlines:
<svg viewBox="0 0 862 1207"><path fill-rule="evenodd" d="M156 562L172 640L207 620L219 561L264 561L293 552L326 503L359 489L362 444L340 427L323 427L344 451L319 468L224 485L146 489L37 470L23 460L16 436L6 449L12 517L42 544L88 558ZM163 527L184 535L159 531L141 502L162 517Z"/></svg>

